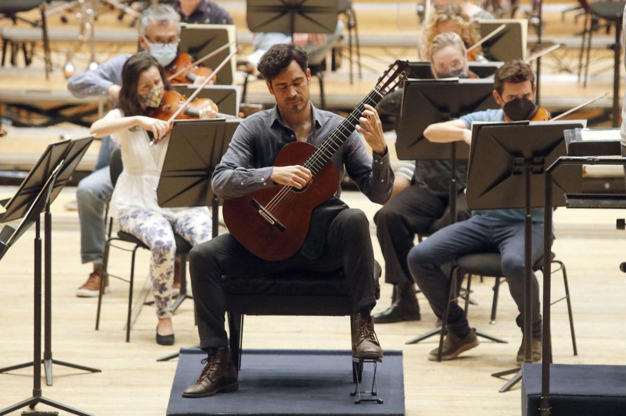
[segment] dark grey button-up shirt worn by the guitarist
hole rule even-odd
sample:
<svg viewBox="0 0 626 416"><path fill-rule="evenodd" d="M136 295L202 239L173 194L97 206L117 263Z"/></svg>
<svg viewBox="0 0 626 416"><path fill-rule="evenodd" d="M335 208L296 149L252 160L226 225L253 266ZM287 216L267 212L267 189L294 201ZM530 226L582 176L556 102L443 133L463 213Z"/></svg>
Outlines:
<svg viewBox="0 0 626 416"><path fill-rule="evenodd" d="M315 108L311 103L313 123L307 142L319 147L344 120L341 116ZM244 119L233 134L228 150L213 172L213 192L223 198L237 198L267 186L280 149L296 141L294 131L280 118L278 107L259 111ZM347 174L369 200L386 203L393 188L394 174L389 152L372 159L367 155L361 134L354 131L332 156L339 178ZM336 196L341 195L341 185Z"/></svg>

